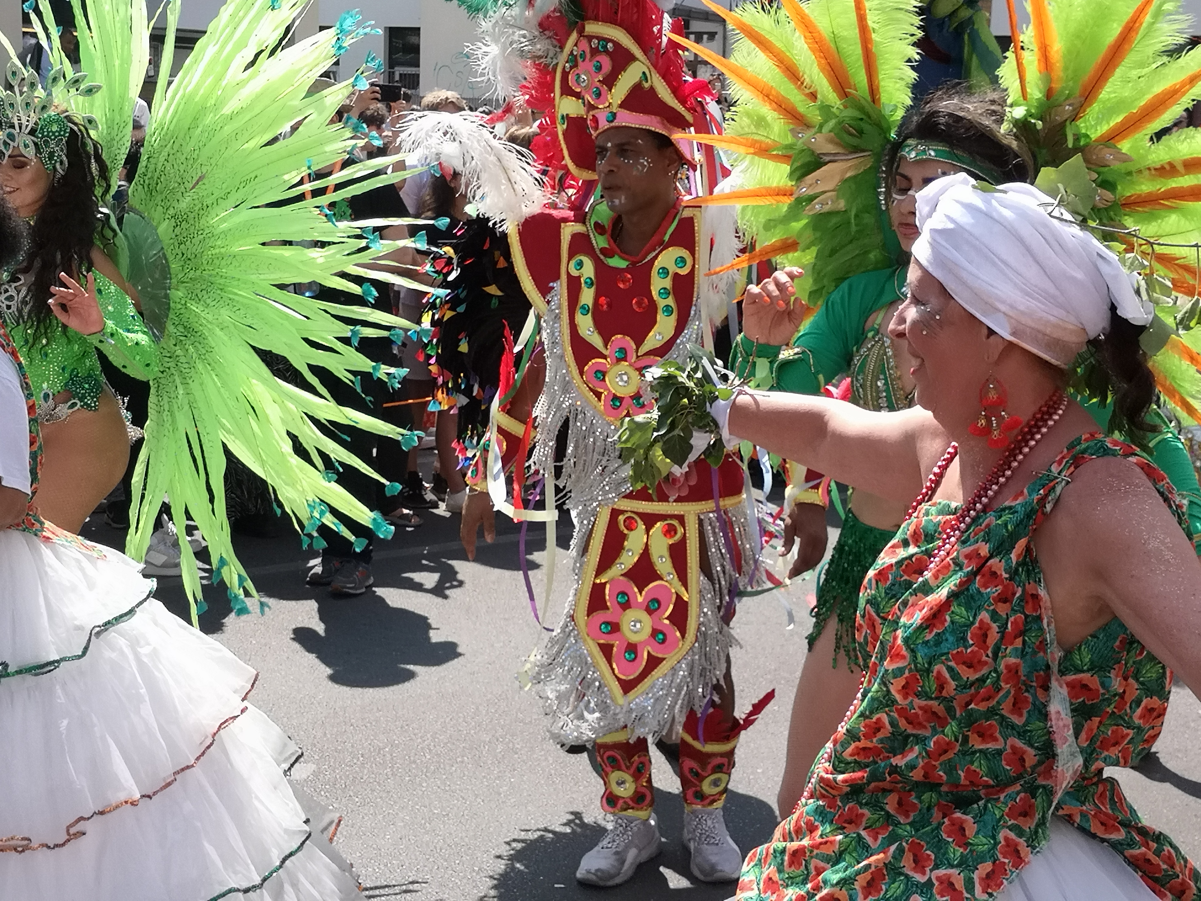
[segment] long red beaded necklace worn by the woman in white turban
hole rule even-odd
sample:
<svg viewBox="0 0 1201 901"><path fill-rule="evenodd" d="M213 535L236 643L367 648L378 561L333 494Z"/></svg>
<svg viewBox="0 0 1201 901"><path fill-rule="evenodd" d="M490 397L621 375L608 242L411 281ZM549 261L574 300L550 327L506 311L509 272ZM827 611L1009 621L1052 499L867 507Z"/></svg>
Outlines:
<svg viewBox="0 0 1201 901"><path fill-rule="evenodd" d="M1059 422L1059 417L1063 416L1064 411L1068 408L1068 396L1063 392L1054 392L1046 402L1032 416L1022 429L1014 436L1012 442L1005 449L1005 453L1000 455L997 460L997 465L992 467L988 476L980 483L979 488L972 493L972 496L967 500L967 503L960 509L958 514L948 523L943 525L943 537L938 542L938 548L934 550L934 556L931 559L926 569L922 572L925 575L936 565L940 563L955 547L958 544L961 537L967 531L967 527L972 524L976 517L979 517L984 511L988 508L988 503L996 496L1000 487L1004 485L1009 477L1014 475L1017 465L1026 459L1026 457L1034 449L1034 446L1045 436L1051 426ZM960 453L960 446L952 443L946 448L946 453L943 454L943 459L938 461L934 466L933 472L930 473L930 478L926 479L926 487L921 489L921 494L918 495L918 500L913 502L909 507L909 512L906 514L906 521L913 519L918 509L926 503L938 490L938 487L943 483L943 477L946 475L948 466L951 465ZM813 765L813 771L809 775L809 781L805 786L805 790L801 793L801 799L796 802L796 807L793 810L795 813L797 810L803 807L806 804L813 800L813 794L817 788L818 777L821 772L830 769L830 762L833 759L833 746L835 742L841 740L842 735L847 730L847 726L850 723L852 717L855 711L859 710L859 705L864 700L864 685L867 682L867 674L859 681L859 691L855 694L855 699L852 702L850 708L847 710L847 715L838 723L838 728L835 729L833 736L826 744L821 752L821 757Z"/></svg>

